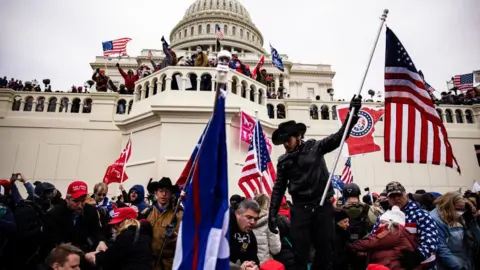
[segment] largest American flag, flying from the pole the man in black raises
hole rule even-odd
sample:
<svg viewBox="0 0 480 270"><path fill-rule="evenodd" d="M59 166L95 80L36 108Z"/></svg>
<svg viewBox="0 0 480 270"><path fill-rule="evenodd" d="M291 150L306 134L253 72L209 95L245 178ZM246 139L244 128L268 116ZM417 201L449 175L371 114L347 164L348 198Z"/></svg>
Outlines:
<svg viewBox="0 0 480 270"><path fill-rule="evenodd" d="M445 164L460 172L425 83L388 27L385 54L385 161Z"/></svg>

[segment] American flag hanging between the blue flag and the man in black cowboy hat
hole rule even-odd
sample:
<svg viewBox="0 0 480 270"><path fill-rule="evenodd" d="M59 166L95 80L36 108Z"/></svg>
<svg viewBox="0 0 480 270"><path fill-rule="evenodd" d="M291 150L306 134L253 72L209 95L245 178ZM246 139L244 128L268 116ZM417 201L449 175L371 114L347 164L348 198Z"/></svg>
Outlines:
<svg viewBox="0 0 480 270"><path fill-rule="evenodd" d="M255 193L270 195L276 179L277 175L268 154L262 126L259 121L256 121L253 139L248 148L238 186L247 198L253 198Z"/></svg>

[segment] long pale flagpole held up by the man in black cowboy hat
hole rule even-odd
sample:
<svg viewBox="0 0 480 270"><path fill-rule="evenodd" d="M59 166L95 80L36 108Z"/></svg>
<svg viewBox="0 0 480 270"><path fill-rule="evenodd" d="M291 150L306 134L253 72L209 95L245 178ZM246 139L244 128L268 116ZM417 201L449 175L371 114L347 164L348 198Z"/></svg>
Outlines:
<svg viewBox="0 0 480 270"><path fill-rule="evenodd" d="M365 68L365 72L363 74L363 78L362 78L362 81L360 83L360 87L359 87L358 92L356 94L357 96L359 96L362 93L362 88L363 88L363 85L365 84L365 80L367 78L368 70L370 69L370 64L372 63L373 55L375 54L375 49L377 48L378 39L380 38L380 34L382 33L383 25L385 24L385 20L387 19L387 14L388 14L388 9L384 9L382 17L380 17L381 22L380 22L380 27L378 28L377 38L375 39L375 43L373 44L372 51L370 52L370 59L368 60L367 67ZM327 197L328 187L332 183L332 175L335 174L335 169L337 168L338 160L340 158L340 155L341 155L341 152L342 152L342 149L343 149L343 145L345 144L345 139L347 137L347 132L346 131L350 130L350 125L352 123L352 118L353 118L353 115L355 115L355 113L356 113L355 108L352 108L352 110L350 112L350 117L348 118L347 124L345 126L345 131L343 132L342 140L340 141L340 149L338 151L337 157L335 158L335 161L333 162L333 166L332 166L332 169L330 170L330 175L328 177L327 184L325 185L325 189L323 190L323 195L322 195L322 200L320 201L320 206L323 206L323 203L325 202L325 199Z"/></svg>

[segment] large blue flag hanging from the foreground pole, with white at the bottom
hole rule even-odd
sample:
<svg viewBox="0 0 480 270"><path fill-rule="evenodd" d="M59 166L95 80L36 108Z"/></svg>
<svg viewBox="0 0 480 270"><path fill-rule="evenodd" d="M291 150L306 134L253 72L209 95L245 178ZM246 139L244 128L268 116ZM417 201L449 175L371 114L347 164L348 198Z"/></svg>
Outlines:
<svg viewBox="0 0 480 270"><path fill-rule="evenodd" d="M225 97L221 95L187 187L174 270L229 270Z"/></svg>

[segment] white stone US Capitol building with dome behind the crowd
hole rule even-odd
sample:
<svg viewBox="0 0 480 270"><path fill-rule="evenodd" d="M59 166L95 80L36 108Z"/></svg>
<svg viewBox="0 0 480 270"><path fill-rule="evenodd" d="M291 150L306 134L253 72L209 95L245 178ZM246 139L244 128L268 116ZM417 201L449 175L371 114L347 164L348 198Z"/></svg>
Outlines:
<svg viewBox="0 0 480 270"><path fill-rule="evenodd" d="M264 49L262 33L237 0L195 1L170 34L177 57L190 56L197 45L215 57L216 24L224 31L221 49L236 52L252 70L265 55L264 67L273 78L263 85L233 70L228 74L230 193L242 194L237 183L248 151L248 144L239 143L242 110L252 116L257 112L268 136L280 122L292 119L307 125L306 138L321 139L338 130L335 106L346 102L333 99L335 72L330 65L295 63L281 55L285 72L275 68ZM121 59L121 67L136 70L142 64L150 65L149 50ZM156 63L163 59L161 50L151 51ZM114 83L123 83L116 62L97 56L90 66L92 70L106 67ZM212 82L205 89L200 78L208 74ZM194 75L196 90L187 90ZM178 87L172 87L173 81ZM102 181L107 166L119 157L132 133L126 187L146 185L151 177L176 180L212 114L214 85L214 68L174 66L137 81L134 95L0 89L0 179L22 172L29 180L52 181L62 192L70 181L79 179L93 191L93 185ZM381 106L377 101L364 104ZM476 154L479 148L475 147L480 145L480 106L440 105L437 110L448 130L461 175L444 166L385 163L383 153L376 152L352 158L354 181L375 192L392 180L402 182L410 192L471 188L474 180L480 180ZM375 139L383 148L381 121L376 126ZM282 146L274 147L272 160L276 163L283 152ZM325 156L329 168L335 155ZM340 158L336 174L341 174L345 160ZM112 184L109 193L118 194L117 188L117 184Z"/></svg>

